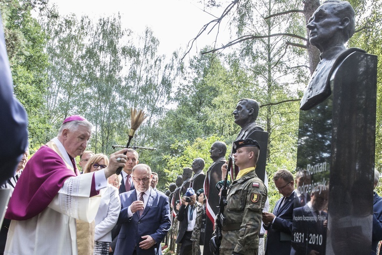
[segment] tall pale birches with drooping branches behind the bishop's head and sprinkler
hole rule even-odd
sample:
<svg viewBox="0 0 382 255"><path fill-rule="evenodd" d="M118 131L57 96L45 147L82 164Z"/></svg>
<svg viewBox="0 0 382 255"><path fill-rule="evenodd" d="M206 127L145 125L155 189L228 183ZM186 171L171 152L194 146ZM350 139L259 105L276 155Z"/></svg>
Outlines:
<svg viewBox="0 0 382 255"><path fill-rule="evenodd" d="M120 15L95 22L87 16L52 16L42 22L48 34L46 107L52 125L58 129L66 116L84 115L94 124L89 149L109 154L113 144L126 144L130 107L137 107L148 118L134 142L153 145L150 134L171 91L174 63L158 54L153 32L147 28L133 36L121 27Z"/></svg>

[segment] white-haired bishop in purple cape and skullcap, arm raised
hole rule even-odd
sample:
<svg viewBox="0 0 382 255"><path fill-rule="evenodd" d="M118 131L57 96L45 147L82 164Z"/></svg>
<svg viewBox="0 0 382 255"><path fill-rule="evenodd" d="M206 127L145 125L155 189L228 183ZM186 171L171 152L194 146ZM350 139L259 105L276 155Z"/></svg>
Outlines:
<svg viewBox="0 0 382 255"><path fill-rule="evenodd" d="M69 116L57 137L29 159L6 210L11 223L4 254L78 253L76 220L94 220L99 190L126 162L124 148L104 169L79 174L74 158L85 150L91 128L84 117Z"/></svg>

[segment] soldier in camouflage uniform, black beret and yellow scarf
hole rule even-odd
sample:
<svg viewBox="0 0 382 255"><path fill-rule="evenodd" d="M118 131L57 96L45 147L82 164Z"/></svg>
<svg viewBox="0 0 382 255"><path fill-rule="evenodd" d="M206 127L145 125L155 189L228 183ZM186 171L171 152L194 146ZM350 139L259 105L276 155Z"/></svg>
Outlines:
<svg viewBox="0 0 382 255"><path fill-rule="evenodd" d="M227 193L220 255L253 255L258 253L262 211L267 199L267 187L255 172L260 145L247 138L236 140L233 147L240 171Z"/></svg>

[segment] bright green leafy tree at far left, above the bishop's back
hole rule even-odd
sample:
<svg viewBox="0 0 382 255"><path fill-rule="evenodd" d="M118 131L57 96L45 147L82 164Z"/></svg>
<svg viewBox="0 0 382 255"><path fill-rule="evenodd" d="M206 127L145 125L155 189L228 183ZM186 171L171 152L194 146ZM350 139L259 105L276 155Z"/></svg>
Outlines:
<svg viewBox="0 0 382 255"><path fill-rule="evenodd" d="M27 0L0 1L14 95L28 114L30 147L45 143L45 134L51 128L44 114L48 64L44 52L45 34L31 16L33 6Z"/></svg>

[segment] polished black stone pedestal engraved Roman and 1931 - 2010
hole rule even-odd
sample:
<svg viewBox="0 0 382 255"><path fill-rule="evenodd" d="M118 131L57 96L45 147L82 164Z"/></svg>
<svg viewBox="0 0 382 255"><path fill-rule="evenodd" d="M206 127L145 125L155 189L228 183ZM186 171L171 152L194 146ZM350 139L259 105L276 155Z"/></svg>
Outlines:
<svg viewBox="0 0 382 255"><path fill-rule="evenodd" d="M376 84L377 56L353 52L333 72L332 94L300 111L297 171L303 170L306 178L297 187L295 254L312 249L328 255L370 254ZM314 211L312 203L317 201L301 202L318 185L329 189L329 203Z"/></svg>

